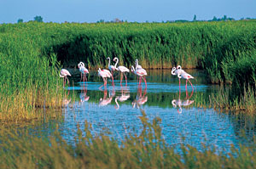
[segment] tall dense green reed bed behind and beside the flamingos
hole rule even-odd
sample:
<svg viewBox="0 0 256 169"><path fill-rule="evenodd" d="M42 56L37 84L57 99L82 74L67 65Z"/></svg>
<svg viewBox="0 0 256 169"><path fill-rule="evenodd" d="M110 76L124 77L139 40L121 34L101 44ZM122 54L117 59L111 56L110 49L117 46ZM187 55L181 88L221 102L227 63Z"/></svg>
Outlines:
<svg viewBox="0 0 256 169"><path fill-rule="evenodd" d="M108 56L128 67L139 59L146 69L205 69L212 83L232 85L229 102L241 101L244 91L255 89L255 51L255 20L2 24L0 120L28 119L38 108L61 107L60 68L79 61L90 69L103 67Z"/></svg>

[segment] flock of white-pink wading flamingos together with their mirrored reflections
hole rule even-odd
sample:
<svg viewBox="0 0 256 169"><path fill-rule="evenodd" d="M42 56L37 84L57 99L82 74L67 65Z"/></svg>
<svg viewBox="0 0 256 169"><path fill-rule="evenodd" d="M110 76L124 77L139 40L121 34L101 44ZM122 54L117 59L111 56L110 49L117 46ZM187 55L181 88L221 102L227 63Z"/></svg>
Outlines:
<svg viewBox="0 0 256 169"><path fill-rule="evenodd" d="M130 70L128 68L126 68L123 65L118 65L119 64L119 59L117 57L115 57L113 59L114 65L111 65L111 59L108 57L108 69L101 69L99 68L97 70L97 75L102 77L103 80L103 84L102 86L105 87L104 90L104 97L103 99L100 100L100 106L104 106L107 105L109 103L111 103L113 96L114 96L114 92L112 94L112 96L110 96L109 94L109 98L107 98L107 82L108 82L108 78L111 78L112 80L112 86L114 87L114 82L113 82L113 74L114 71L118 71L120 73L120 86L122 87L122 80L123 80L123 76L125 76L125 86L127 86L127 76L126 73L130 73ZM80 82L87 82L87 77L86 75L89 74L89 70L85 68L85 65L83 62L79 62L79 72L81 74L81 78L80 78ZM134 100L132 102L133 107L137 107L139 108L140 105L144 104L145 102L147 102L148 97L145 95L147 93L147 81L146 81L146 76L148 76L147 74L147 70L143 69L143 67L141 65L139 65L138 63L138 59L135 60L135 65L131 65L131 72L133 74L135 74L137 76L137 81L138 81L138 95L137 95L137 99ZM189 75L189 73L187 73L185 70L182 69L181 65L177 65L177 67L173 67L172 68L172 75L177 76L178 81L179 81L179 99L173 99L172 100L172 105L174 108L178 107L179 109L177 110L178 113L182 112L182 106L188 106L189 104L192 104L194 101L189 100L191 98L191 96L193 95L194 92L194 87L192 82L190 82L191 79L195 79L194 76ZM67 78L67 76L71 76L70 72L66 69L61 69L60 72L60 76L63 78L63 87L65 87L66 83L68 83L69 86L69 80ZM181 84L181 79L186 80L186 99L185 100L181 100L180 99L180 84ZM142 95L142 80L145 84L145 90L144 90L144 94ZM187 84L188 82L190 83L191 87L192 87L192 93L191 95L188 97L188 91L187 91ZM101 87L102 87L101 86ZM85 87L85 86L84 86ZM101 88L99 87L99 88ZM80 102L79 104L83 104L84 101L88 101L88 99L90 99L89 96L86 95L87 93L87 87L86 89L84 88L84 93L81 94L80 96ZM122 88L122 95L119 97L115 98L115 103L116 106L115 109L118 110L119 109L119 102L123 102L127 99L130 98L130 94L129 93L125 93L123 92L123 88Z"/></svg>

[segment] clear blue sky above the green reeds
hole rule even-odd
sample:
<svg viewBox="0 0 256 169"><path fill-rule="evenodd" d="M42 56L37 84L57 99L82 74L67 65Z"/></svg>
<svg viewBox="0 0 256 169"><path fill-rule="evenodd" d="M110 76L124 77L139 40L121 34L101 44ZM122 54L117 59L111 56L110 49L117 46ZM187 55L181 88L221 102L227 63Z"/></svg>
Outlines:
<svg viewBox="0 0 256 169"><path fill-rule="evenodd" d="M0 0L0 24L25 22L42 16L44 22L145 22L212 20L225 15L256 18L256 0Z"/></svg>

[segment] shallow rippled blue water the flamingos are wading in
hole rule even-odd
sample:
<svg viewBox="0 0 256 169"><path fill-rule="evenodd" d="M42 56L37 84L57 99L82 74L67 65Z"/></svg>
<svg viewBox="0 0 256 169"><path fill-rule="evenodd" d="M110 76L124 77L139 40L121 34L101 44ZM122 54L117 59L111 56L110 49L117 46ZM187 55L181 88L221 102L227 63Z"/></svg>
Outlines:
<svg viewBox="0 0 256 169"><path fill-rule="evenodd" d="M256 132L255 118L198 108L196 105L202 100L209 102L211 93L218 91L218 86L209 85L202 71L188 72L195 76L195 80L191 80L195 90L188 83L187 92L184 80L179 90L177 76L172 76L171 70L148 71L147 88L144 83L138 86L137 77L132 74L127 76L127 85L123 82L122 86L119 75L115 75L114 87L110 80L107 87L101 87L103 81L93 71L88 76L89 82L79 82L79 74L74 75L70 79L73 86L67 87L69 92L63 99L65 109L61 120L49 120L18 130L21 132L26 128L32 134L40 132L45 136L59 130L63 138L73 144L78 125L83 131L84 121L89 121L94 133L108 128L111 132L108 135L120 141L129 132L142 131L139 116L144 110L150 121L160 117L163 136L170 145L183 143L201 149L201 143L204 143L229 150L231 144L238 148L239 143L252 143Z"/></svg>

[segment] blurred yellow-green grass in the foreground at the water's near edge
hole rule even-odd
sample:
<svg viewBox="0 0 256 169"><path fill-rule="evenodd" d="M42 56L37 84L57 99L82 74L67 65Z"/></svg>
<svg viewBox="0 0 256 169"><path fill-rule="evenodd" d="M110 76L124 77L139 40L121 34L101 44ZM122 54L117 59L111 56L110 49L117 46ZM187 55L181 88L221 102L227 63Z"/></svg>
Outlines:
<svg viewBox="0 0 256 169"><path fill-rule="evenodd" d="M48 139L2 129L1 168L255 168L256 147L241 145L229 154L205 147L199 151L182 145L182 152L166 144L161 135L160 119L152 123L142 111L143 130L129 134L122 143L103 133L93 135L90 124L85 135L78 130L74 146L55 132ZM225 154L225 155L224 155Z"/></svg>

